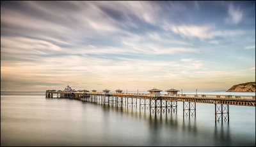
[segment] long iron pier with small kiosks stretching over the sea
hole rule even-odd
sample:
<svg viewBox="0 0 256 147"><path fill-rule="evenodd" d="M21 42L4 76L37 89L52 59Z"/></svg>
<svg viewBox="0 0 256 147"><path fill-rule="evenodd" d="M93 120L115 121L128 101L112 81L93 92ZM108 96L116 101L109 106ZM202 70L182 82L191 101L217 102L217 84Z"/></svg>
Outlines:
<svg viewBox="0 0 256 147"><path fill-rule="evenodd" d="M68 98L84 102L96 102L105 106L116 106L122 108L137 108L140 111L149 110L150 114L177 113L177 102L183 102L183 116L196 116L196 103L207 103L215 105L215 122L229 122L229 105L255 106L255 96L237 95L192 95L177 94L177 90L166 90L168 94L160 94L162 90L156 88L148 90L149 94L122 93L122 90L115 90L116 93L109 93L110 90L96 92L83 90L82 92L45 92L46 98ZM56 96L55 96L56 95Z"/></svg>

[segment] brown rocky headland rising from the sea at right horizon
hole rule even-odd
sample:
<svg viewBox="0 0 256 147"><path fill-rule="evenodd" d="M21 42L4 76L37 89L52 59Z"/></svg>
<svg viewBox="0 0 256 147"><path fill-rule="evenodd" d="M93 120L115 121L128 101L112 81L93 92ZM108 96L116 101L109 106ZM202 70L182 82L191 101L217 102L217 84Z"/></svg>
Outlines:
<svg viewBox="0 0 256 147"><path fill-rule="evenodd" d="M255 92L255 82L234 85L227 92Z"/></svg>

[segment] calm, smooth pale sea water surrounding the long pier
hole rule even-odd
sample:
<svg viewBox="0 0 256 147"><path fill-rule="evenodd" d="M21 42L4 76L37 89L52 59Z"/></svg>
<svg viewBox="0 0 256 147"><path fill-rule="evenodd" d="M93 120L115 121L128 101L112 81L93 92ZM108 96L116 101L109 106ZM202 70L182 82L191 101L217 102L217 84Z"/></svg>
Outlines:
<svg viewBox="0 0 256 147"><path fill-rule="evenodd" d="M182 102L177 109L150 115L45 99L44 92L1 92L1 146L255 146L255 107L230 105L229 123L215 123L214 104L196 103L196 118L183 118Z"/></svg>

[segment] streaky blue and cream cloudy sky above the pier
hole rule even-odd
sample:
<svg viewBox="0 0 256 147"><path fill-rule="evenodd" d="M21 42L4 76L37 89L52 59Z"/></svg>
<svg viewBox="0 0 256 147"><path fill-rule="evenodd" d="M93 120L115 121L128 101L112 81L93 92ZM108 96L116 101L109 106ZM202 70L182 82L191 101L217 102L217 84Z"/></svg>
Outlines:
<svg viewBox="0 0 256 147"><path fill-rule="evenodd" d="M1 1L1 91L255 81L255 1Z"/></svg>

